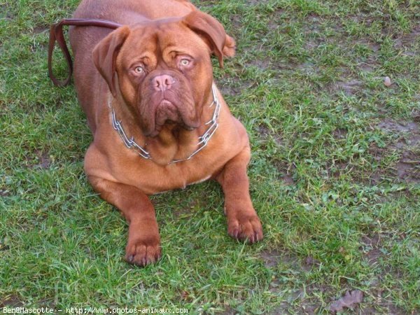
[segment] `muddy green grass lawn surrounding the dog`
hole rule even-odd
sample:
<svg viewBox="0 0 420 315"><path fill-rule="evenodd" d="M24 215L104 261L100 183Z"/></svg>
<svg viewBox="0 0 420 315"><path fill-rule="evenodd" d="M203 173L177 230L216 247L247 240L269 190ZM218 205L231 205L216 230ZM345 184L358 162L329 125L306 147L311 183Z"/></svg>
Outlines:
<svg viewBox="0 0 420 315"><path fill-rule="evenodd" d="M0 0L0 307L328 314L361 290L344 313L419 314L420 2L194 2L237 40L215 80L251 137L265 239L228 237L201 183L151 197L162 260L128 265L74 87L47 73L48 25L78 1Z"/></svg>

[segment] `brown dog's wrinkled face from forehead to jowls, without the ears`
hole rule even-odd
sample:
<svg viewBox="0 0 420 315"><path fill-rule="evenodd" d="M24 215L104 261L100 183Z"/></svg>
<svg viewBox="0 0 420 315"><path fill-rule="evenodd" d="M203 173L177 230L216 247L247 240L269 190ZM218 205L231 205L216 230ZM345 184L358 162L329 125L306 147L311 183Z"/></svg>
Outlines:
<svg viewBox="0 0 420 315"><path fill-rule="evenodd" d="M147 136L167 122L186 129L199 126L196 104L211 86L208 46L179 22L136 27L116 61L125 102L138 113Z"/></svg>

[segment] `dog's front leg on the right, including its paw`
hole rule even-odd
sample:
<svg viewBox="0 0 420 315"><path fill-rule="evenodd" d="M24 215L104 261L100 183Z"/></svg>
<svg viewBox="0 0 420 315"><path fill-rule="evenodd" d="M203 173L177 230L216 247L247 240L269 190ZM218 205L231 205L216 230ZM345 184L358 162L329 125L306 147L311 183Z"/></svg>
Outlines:
<svg viewBox="0 0 420 315"><path fill-rule="evenodd" d="M228 217L228 233L237 239L254 243L262 239L262 227L249 195L246 169L251 157L246 147L226 163L217 181L225 193L225 214Z"/></svg>

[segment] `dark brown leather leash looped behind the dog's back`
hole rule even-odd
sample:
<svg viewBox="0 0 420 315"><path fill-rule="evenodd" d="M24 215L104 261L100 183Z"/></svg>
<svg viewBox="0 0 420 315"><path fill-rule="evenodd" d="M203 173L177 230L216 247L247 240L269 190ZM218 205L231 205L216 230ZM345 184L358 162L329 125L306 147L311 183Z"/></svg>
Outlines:
<svg viewBox="0 0 420 315"><path fill-rule="evenodd" d="M52 80L55 86L64 87L69 85L71 80L71 74L73 73L73 62L71 61L71 55L69 48L67 48L66 41L63 34L64 25L73 25L73 26L94 26L94 27L106 27L109 29L118 29L122 26L116 22L109 20L99 20L99 19L64 19L58 23L52 24L50 26L50 41L48 43L48 76ZM62 50L64 58L67 63L67 77L64 80L58 80L54 73L52 73L52 52L55 48L55 42L57 41L59 48Z"/></svg>

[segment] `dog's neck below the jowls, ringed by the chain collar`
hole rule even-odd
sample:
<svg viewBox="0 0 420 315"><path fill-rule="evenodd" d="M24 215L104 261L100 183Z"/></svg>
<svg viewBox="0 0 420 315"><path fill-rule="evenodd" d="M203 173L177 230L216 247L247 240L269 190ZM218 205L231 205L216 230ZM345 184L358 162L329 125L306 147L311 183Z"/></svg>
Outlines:
<svg viewBox="0 0 420 315"><path fill-rule="evenodd" d="M204 98L202 106L200 106L199 127L195 130L186 130L175 123L167 123L156 137L146 137L144 135L139 126L139 120L130 111L130 107L125 105L123 97L118 96L117 99L111 97L109 107L111 115L113 115L113 128L120 134L127 147L131 146L131 149L137 151L143 158L152 160L158 165L170 165L174 162L183 162L193 158L192 155L195 155L197 149L203 146L202 143L200 144L203 135L207 134L205 137L208 137L211 131L215 130L215 127L217 128L216 121L216 126L209 130L211 127L209 122L215 117L216 120L218 118L218 111L220 111L221 106L218 102L216 88L213 87L207 97ZM116 124L120 125L116 126ZM121 130L123 131L121 132ZM132 141L131 144L130 141Z"/></svg>

